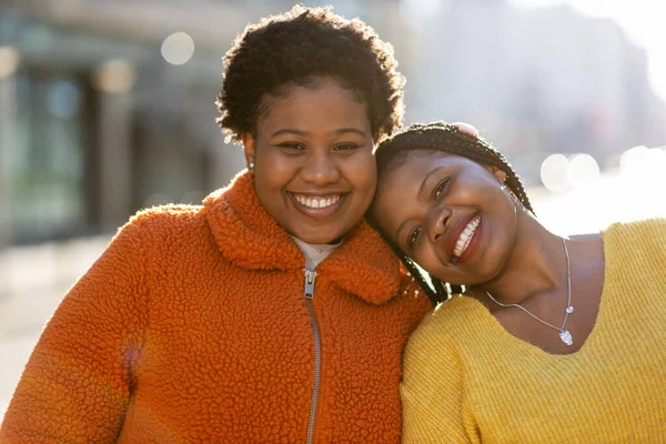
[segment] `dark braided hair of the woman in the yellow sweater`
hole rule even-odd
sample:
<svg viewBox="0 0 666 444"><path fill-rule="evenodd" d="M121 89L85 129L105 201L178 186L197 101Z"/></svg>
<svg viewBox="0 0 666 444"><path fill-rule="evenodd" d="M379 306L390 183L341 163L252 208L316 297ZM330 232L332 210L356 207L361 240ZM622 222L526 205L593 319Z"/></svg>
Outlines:
<svg viewBox="0 0 666 444"><path fill-rule="evenodd" d="M414 150L441 151L467 158L486 167L498 168L506 173L504 184L514 194L515 199L534 214L525 188L506 158L483 139L466 134L460 131L457 127L444 122L416 123L380 143L375 151L379 181L402 164L410 152ZM372 214L369 213L367 219L382 232ZM391 242L385 233L382 234L402 260L412 278L418 281L431 301L440 303L450 299L452 294L463 292L460 285L442 282L430 273L422 272L422 269L406 256L397 245Z"/></svg>

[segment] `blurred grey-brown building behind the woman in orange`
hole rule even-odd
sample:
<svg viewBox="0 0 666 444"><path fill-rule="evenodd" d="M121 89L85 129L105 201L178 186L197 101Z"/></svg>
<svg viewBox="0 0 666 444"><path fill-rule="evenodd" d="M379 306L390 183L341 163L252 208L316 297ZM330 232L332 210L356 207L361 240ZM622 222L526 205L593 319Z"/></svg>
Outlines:
<svg viewBox="0 0 666 444"><path fill-rule="evenodd" d="M387 31L400 23L396 1L339 3ZM198 203L225 184L244 162L214 123L221 57L246 23L291 4L0 7L0 245L109 232L140 208Z"/></svg>

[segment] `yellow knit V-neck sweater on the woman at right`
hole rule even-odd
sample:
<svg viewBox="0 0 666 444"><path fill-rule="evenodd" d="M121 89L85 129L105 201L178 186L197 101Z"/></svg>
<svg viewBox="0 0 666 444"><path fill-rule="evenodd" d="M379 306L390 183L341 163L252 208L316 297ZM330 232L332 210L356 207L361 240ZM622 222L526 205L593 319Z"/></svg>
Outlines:
<svg viewBox="0 0 666 444"><path fill-rule="evenodd" d="M603 232L583 347L552 355L476 300L426 316L405 352L403 443L666 443L666 220Z"/></svg>

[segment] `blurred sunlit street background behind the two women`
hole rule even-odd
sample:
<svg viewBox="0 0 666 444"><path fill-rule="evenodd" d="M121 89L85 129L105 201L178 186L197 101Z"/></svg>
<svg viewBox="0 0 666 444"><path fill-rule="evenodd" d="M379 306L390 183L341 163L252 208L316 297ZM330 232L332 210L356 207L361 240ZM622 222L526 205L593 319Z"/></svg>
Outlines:
<svg viewBox="0 0 666 444"><path fill-rule="evenodd" d="M556 232L666 216L666 27L648 0L341 0L393 43L407 122L467 121ZM244 165L221 60L281 0L0 1L0 416L64 291L133 212Z"/></svg>

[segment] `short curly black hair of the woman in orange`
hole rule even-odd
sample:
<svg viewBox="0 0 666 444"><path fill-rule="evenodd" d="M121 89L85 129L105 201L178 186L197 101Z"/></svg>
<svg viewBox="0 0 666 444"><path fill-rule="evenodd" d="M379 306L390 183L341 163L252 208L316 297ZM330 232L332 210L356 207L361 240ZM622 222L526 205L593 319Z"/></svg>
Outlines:
<svg viewBox="0 0 666 444"><path fill-rule="evenodd" d="M331 7L295 6L249 24L224 57L224 80L215 102L216 122L228 140L255 134L264 94L285 85L309 85L333 77L366 105L373 139L401 127L404 77L393 47L363 21L347 20Z"/></svg>

